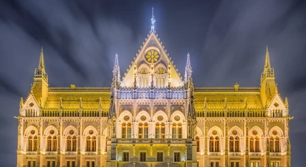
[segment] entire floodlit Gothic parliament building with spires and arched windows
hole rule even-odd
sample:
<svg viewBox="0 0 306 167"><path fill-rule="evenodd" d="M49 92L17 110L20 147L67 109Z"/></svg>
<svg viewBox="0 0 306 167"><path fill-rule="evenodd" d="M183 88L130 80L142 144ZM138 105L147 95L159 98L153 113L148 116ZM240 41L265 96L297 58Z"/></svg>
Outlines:
<svg viewBox="0 0 306 167"><path fill-rule="evenodd" d="M43 50L21 98L17 166L290 167L288 100L266 49L259 87L195 87L154 30L110 87L50 87ZM111 73L111 71L110 71Z"/></svg>

